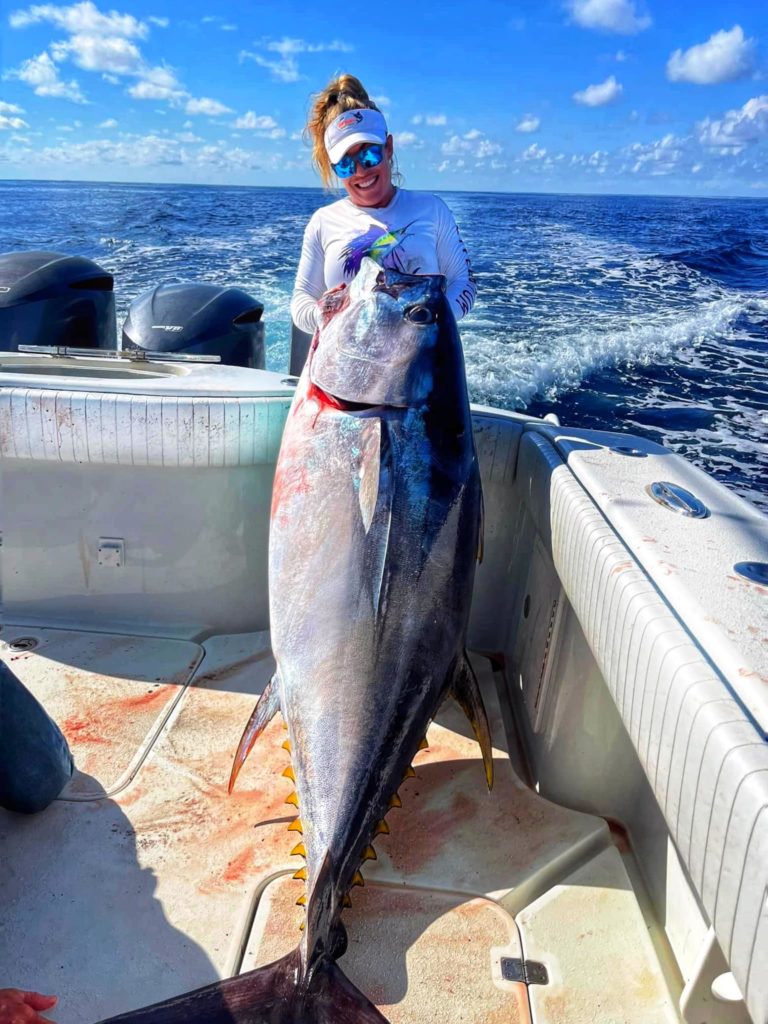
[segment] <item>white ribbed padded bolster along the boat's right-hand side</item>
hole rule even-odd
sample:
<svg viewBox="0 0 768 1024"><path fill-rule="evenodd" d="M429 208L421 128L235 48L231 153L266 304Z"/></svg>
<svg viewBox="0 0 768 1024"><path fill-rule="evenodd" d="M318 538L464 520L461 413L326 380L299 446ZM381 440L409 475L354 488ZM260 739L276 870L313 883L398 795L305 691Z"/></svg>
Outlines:
<svg viewBox="0 0 768 1024"><path fill-rule="evenodd" d="M518 475L532 495L549 479L565 593L750 1013L768 1020L768 743L543 437L524 435Z"/></svg>

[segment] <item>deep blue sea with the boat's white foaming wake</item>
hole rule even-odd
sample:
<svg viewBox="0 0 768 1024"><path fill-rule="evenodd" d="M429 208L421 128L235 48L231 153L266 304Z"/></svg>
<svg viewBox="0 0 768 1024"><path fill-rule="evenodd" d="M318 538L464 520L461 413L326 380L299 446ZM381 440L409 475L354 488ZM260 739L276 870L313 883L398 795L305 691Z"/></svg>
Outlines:
<svg viewBox="0 0 768 1024"><path fill-rule="evenodd" d="M479 293L461 325L474 401L663 441L768 511L768 202L441 194ZM319 189L0 181L0 252L115 275L118 327L162 282L244 288L284 371Z"/></svg>

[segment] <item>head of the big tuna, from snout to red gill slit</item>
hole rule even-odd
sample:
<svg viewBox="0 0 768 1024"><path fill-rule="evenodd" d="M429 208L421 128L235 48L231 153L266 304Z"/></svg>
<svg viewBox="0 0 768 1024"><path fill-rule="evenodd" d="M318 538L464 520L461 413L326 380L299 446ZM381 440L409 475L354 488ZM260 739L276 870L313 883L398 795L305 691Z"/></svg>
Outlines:
<svg viewBox="0 0 768 1024"><path fill-rule="evenodd" d="M324 299L309 376L345 402L408 408L436 390L438 356L442 370L458 361L463 373L445 279L382 270L365 259L348 289Z"/></svg>

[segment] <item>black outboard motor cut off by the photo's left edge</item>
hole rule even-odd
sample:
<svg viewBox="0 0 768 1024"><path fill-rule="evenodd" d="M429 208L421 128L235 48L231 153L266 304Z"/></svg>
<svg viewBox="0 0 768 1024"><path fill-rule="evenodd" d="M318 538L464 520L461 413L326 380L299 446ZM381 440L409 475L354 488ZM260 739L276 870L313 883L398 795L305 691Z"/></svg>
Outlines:
<svg viewBox="0 0 768 1024"><path fill-rule="evenodd" d="M115 348L114 280L84 256L0 254L0 350Z"/></svg>

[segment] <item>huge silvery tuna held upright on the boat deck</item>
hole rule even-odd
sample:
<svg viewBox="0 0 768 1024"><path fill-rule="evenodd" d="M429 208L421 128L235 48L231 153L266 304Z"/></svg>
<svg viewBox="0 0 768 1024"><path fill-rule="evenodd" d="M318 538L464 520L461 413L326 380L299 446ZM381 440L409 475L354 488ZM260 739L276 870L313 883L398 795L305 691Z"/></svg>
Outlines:
<svg viewBox="0 0 768 1024"><path fill-rule="evenodd" d="M269 537L278 671L230 788L276 712L288 725L306 858L293 953L116 1021L365 1024L384 1018L336 966L341 913L399 806L446 695L465 709L488 785L490 738L464 645L481 514L464 361L441 276L371 260L325 298L283 438Z"/></svg>

